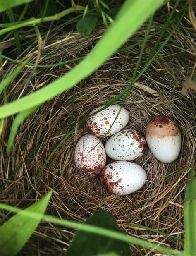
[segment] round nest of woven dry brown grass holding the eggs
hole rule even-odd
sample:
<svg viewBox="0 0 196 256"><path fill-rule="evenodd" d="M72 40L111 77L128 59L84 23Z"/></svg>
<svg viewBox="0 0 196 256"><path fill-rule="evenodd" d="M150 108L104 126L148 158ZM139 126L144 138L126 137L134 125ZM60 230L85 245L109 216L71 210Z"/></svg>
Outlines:
<svg viewBox="0 0 196 256"><path fill-rule="evenodd" d="M142 39L145 29L144 26L137 31L127 45ZM62 31L50 34L39 65L55 62L47 54L60 61L86 55L104 30L97 29L88 37ZM4 143L1 144L0 179L1 185L7 183L0 194L0 201L27 207L53 189L47 214L84 221L94 211L104 209L117 219L118 225L125 229L127 234L183 250L182 241L131 227L132 223L137 223L173 234L180 239L184 238L183 203L186 174L189 171L187 167L194 164L194 92L189 91L186 96L181 94L182 82L188 74L181 67L177 56L180 55L187 62L193 59L195 53L193 41L191 38L184 40L181 27L173 36L173 41L175 40L182 44L184 50L170 42L153 66L148 68L133 86L125 108L130 113L126 128L138 129L143 133L148 120L154 115L169 115L176 120L182 132L182 150L176 161L171 164L160 163L147 149L143 157L135 160L147 172L147 182L142 189L128 196L110 195L102 189L99 177L86 178L74 166L74 147L78 139L87 132L83 124L81 127L75 127L75 131L45 166L41 177L37 181L35 179L50 153L65 137L67 131L74 127L74 122L128 86L139 56L140 47L136 46L126 53L115 54L90 77L77 84L75 98L74 90L69 90L46 102L28 117L17 132L10 158L6 156L4 143L6 144L8 138L12 117L7 118L7 128L2 134ZM155 41L156 37L148 42L140 68ZM29 54L33 54L31 62L35 63L37 50L32 50ZM191 66L191 61L189 63ZM26 66L10 85L9 91L13 92L14 96L10 94L8 100L16 100L49 84L74 65L76 64L37 67L33 72L32 67ZM173 69L174 67L178 68ZM117 104L121 103L122 99L117 101ZM73 230L41 222L20 255L29 255L30 252L35 255L62 255L73 234ZM132 255L153 255L151 251L137 246L131 246L131 252Z"/></svg>

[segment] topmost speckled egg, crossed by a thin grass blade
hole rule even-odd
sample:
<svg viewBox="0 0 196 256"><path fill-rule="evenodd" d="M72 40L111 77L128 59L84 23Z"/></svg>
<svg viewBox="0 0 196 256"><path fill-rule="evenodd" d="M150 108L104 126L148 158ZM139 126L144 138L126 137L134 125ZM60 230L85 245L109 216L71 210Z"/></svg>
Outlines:
<svg viewBox="0 0 196 256"><path fill-rule="evenodd" d="M100 108L103 108L103 107L104 106L100 106L98 108L93 109L93 111L90 112L89 115L91 115L92 113L98 111ZM119 132L129 122L129 112L125 108L122 108L117 117L119 110L120 110L120 106L114 104L109 106L105 110L98 112L92 117L89 117L86 120L86 126L89 132L98 137L110 136L112 134ZM115 120L116 117L117 119ZM113 124L114 121L115 123ZM108 132L109 129L110 131Z"/></svg>

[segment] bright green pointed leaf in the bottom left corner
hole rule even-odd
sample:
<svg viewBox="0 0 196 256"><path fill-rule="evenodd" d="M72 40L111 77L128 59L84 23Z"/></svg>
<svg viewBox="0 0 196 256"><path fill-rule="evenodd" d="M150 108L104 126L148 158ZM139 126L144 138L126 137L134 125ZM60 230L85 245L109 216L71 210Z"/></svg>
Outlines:
<svg viewBox="0 0 196 256"><path fill-rule="evenodd" d="M0 256L16 255L38 226L48 205L52 191L25 210L7 220L0 227ZM26 212L38 213L39 218L26 216Z"/></svg>

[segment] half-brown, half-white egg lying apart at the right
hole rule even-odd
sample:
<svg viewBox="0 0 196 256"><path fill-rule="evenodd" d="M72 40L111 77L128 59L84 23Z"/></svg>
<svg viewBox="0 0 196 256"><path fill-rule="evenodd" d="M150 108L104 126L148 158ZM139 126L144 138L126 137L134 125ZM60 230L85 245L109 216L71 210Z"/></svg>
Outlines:
<svg viewBox="0 0 196 256"><path fill-rule="evenodd" d="M181 148L180 129L165 115L153 117L146 126L146 141L153 155L163 163L173 162Z"/></svg>

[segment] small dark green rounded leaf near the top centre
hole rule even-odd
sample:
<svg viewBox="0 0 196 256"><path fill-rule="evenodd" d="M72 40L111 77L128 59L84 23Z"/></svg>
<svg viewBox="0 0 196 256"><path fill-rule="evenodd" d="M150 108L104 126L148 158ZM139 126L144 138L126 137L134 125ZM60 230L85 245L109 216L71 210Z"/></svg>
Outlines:
<svg viewBox="0 0 196 256"><path fill-rule="evenodd" d="M77 32L84 34L84 35L89 35L93 29L95 28L97 23L97 16L91 15L91 14L86 14L84 19L80 19L79 22L77 23Z"/></svg>

